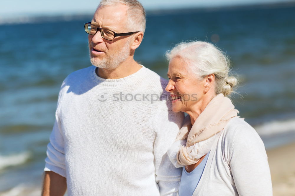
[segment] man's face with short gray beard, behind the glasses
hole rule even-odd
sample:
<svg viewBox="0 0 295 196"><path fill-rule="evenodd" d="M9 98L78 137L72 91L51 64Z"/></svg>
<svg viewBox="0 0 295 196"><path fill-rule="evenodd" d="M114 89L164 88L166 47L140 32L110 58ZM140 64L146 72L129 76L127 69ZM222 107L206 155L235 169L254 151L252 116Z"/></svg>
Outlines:
<svg viewBox="0 0 295 196"><path fill-rule="evenodd" d="M94 13L91 24L116 33L129 32L126 28L127 9L123 4L104 6ZM109 41L101 37L99 31L95 35L88 35L90 61L104 69L115 69L130 56L130 39L132 36L118 36Z"/></svg>

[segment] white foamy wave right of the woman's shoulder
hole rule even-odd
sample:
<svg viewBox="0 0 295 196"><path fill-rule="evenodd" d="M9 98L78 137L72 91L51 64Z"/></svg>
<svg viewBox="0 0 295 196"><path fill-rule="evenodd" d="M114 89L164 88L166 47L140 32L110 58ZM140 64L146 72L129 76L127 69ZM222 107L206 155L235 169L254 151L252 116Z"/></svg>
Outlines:
<svg viewBox="0 0 295 196"><path fill-rule="evenodd" d="M295 132L295 119L273 120L254 127L260 136Z"/></svg>

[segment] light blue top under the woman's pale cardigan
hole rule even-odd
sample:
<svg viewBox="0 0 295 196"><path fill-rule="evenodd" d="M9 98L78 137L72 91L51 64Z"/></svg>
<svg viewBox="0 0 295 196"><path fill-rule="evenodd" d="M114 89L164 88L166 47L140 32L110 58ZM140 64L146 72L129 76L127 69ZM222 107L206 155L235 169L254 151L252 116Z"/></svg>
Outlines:
<svg viewBox="0 0 295 196"><path fill-rule="evenodd" d="M205 158L202 160L200 165L198 165L193 171L187 172L185 168L182 168L182 174L181 174L181 180L178 190L179 196L192 196L194 190L196 189L202 173L204 171L207 159L209 156L209 152L205 156Z"/></svg>

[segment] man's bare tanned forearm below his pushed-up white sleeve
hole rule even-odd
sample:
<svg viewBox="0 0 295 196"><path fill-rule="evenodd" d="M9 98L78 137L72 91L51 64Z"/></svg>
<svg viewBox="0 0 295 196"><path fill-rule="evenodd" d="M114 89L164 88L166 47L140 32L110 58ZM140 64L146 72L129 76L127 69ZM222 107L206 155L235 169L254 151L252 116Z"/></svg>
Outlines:
<svg viewBox="0 0 295 196"><path fill-rule="evenodd" d="M67 179L52 171L45 171L42 196L63 196L67 190Z"/></svg>

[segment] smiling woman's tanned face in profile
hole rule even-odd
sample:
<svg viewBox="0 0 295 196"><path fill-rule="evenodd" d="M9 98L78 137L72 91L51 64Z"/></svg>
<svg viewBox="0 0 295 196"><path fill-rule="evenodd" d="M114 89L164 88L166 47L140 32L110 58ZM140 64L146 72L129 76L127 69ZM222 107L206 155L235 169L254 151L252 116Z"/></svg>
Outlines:
<svg viewBox="0 0 295 196"><path fill-rule="evenodd" d="M197 79L180 57L171 59L167 75L165 90L170 92L173 112L192 111L204 96L204 80Z"/></svg>

